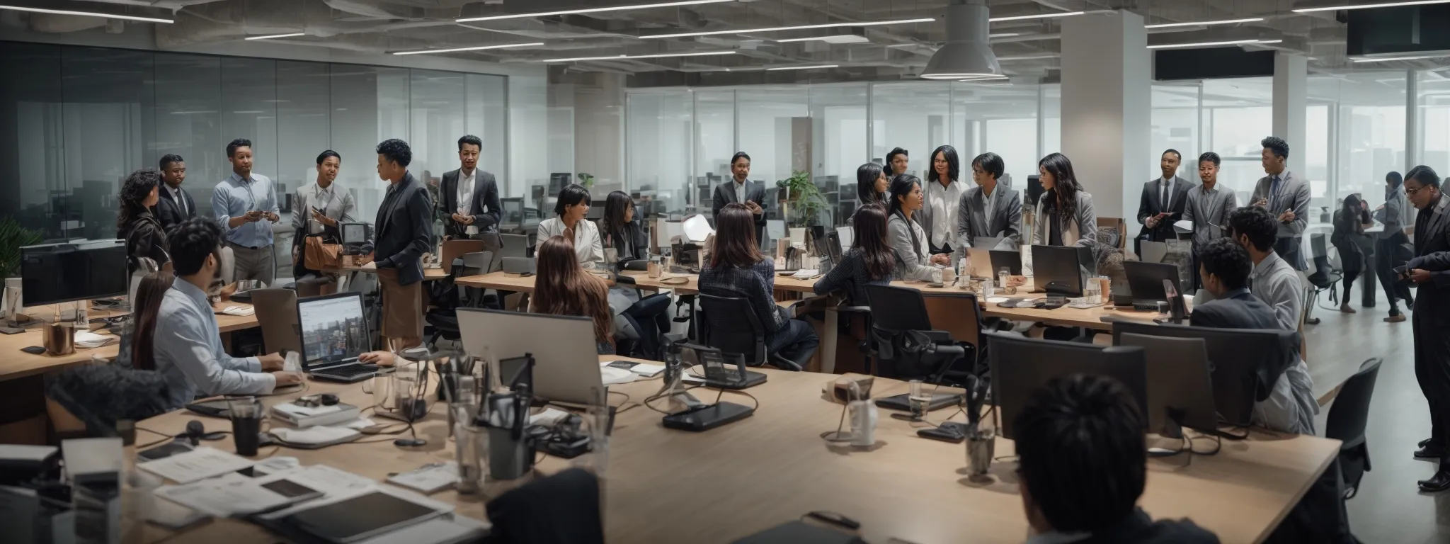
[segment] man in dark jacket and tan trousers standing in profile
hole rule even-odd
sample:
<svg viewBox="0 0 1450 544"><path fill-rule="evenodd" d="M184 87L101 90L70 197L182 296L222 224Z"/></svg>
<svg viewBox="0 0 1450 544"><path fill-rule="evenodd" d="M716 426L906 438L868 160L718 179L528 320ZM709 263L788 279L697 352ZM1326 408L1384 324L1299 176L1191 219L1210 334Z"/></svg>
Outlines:
<svg viewBox="0 0 1450 544"><path fill-rule="evenodd" d="M374 241L362 248L364 260L377 264L383 289L381 334L397 351L423 338L423 263L434 231L434 203L428 187L407 173L413 151L402 139L377 145L377 174L387 194L377 207Z"/></svg>

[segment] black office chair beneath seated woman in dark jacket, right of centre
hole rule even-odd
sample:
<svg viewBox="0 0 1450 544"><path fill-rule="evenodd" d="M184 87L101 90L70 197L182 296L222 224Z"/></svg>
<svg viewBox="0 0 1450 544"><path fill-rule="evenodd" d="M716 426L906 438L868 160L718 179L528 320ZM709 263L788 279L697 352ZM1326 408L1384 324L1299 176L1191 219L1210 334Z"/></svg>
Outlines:
<svg viewBox="0 0 1450 544"><path fill-rule="evenodd" d="M941 383L951 366L966 357L947 331L931 328L927 300L919 290L866 286L870 299L871 339L876 344L877 371L883 377L929 377Z"/></svg>

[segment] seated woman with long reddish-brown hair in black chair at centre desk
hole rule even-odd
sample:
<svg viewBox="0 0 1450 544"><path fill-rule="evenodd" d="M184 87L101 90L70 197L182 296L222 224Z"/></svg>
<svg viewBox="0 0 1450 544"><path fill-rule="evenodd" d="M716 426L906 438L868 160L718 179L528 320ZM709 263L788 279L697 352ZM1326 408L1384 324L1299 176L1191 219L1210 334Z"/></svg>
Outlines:
<svg viewBox="0 0 1450 544"><path fill-rule="evenodd" d="M790 319L776 305L776 263L755 245L755 215L745 205L732 202L715 218L715 250L700 270L700 293L744 297L766 328L766 351L805 366L819 339L815 329L800 319Z"/></svg>

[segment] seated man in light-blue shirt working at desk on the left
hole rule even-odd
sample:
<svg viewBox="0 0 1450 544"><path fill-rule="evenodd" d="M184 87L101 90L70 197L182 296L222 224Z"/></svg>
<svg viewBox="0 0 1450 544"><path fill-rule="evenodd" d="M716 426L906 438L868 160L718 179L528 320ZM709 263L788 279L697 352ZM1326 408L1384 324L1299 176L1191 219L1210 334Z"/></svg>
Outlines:
<svg viewBox="0 0 1450 544"><path fill-rule="evenodd" d="M239 358L222 348L206 293L222 267L222 226L187 219L171 231L170 245L177 280L161 299L154 337L157 371L170 390L167 408L181 408L197 395L267 395L302 383L302 374L280 371L278 354Z"/></svg>

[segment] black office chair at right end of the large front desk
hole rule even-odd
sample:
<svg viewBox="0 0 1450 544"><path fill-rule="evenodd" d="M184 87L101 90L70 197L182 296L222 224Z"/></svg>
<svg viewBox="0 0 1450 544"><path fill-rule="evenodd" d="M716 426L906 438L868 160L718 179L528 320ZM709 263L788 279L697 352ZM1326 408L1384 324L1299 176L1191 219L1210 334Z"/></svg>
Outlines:
<svg viewBox="0 0 1450 544"><path fill-rule="evenodd" d="M1359 493L1360 479L1370 470L1369 444L1364 442L1364 425L1369 422L1369 400L1375 395L1375 379L1379 376L1379 358L1372 358L1350 376L1334 397L1330 416L1324 422L1324 437L1340 442L1340 469L1344 471L1344 498Z"/></svg>

